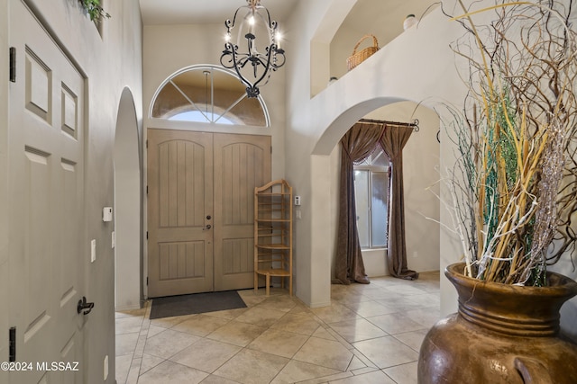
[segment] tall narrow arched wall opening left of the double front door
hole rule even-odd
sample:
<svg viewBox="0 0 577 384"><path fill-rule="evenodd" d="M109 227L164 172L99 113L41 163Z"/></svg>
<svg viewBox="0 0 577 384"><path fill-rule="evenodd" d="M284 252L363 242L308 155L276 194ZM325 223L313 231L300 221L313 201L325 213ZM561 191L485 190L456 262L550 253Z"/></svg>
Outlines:
<svg viewBox="0 0 577 384"><path fill-rule="evenodd" d="M142 153L133 94L120 98L114 138L114 307L141 308Z"/></svg>

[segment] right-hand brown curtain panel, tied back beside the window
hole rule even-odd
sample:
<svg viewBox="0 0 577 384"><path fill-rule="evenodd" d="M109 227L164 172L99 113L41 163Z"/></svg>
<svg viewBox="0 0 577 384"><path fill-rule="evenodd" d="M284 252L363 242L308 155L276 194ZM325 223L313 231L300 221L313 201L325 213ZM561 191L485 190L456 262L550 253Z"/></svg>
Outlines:
<svg viewBox="0 0 577 384"><path fill-rule="evenodd" d="M403 147L413 129L387 125L380 137L380 147L390 159L389 250L387 259L391 276L406 280L418 279L418 273L407 268L405 241L405 194L403 188Z"/></svg>

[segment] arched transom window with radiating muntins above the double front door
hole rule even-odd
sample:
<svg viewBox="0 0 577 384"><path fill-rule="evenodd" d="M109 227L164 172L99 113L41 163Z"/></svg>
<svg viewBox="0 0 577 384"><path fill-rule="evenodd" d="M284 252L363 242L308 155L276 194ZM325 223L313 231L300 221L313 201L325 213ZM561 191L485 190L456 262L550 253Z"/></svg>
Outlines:
<svg viewBox="0 0 577 384"><path fill-rule="evenodd" d="M246 97L245 86L222 67L181 69L160 85L151 117L172 121L268 127L269 114L261 97Z"/></svg>

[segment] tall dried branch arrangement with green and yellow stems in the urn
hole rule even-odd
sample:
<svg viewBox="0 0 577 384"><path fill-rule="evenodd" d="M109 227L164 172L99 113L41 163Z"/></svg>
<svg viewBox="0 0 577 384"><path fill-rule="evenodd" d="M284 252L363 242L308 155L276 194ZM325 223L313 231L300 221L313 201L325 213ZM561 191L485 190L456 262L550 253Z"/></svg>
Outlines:
<svg viewBox="0 0 577 384"><path fill-rule="evenodd" d="M466 272L546 285L546 266L571 257L577 240L574 4L458 4L453 20L466 32L452 48L469 68L469 91L463 112L444 121L457 157L445 182ZM487 13L490 23L474 22Z"/></svg>

